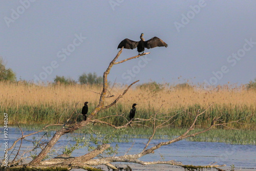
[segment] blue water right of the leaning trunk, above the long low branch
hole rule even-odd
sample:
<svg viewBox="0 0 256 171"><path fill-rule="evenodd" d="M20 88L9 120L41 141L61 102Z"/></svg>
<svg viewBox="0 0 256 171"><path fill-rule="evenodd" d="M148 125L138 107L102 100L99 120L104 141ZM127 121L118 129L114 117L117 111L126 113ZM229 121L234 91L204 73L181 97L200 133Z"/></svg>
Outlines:
<svg viewBox="0 0 256 171"><path fill-rule="evenodd" d="M134 139L135 144L129 154L135 154L143 149L147 139ZM153 140L158 144L163 140ZM132 143L118 143L120 155L130 148ZM163 156L163 158L161 158ZM256 170L256 145L233 145L217 142L178 141L162 146L154 154L140 158L143 161L176 160L183 164L208 165L217 162L219 165L234 165L236 168L252 168ZM226 167L227 168L227 167Z"/></svg>

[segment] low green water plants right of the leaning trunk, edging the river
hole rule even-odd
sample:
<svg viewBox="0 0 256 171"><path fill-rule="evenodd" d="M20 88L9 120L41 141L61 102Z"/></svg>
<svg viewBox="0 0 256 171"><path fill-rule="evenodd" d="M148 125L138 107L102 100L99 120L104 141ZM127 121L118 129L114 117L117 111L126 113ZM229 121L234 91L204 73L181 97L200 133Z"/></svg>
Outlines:
<svg viewBox="0 0 256 171"><path fill-rule="evenodd" d="M111 131L108 127L99 126L98 131L102 134ZM201 131L202 129L195 129L191 133ZM168 128L158 130L154 139L173 139L183 134L186 129ZM152 129L147 127L129 127L126 129L126 134L118 135L119 139L124 138L129 140L132 138L148 138L152 134ZM187 141L204 141L204 142L225 142L229 144L251 144L256 145L255 131L239 131L239 130L224 130L213 129L202 133L195 137L187 138Z"/></svg>

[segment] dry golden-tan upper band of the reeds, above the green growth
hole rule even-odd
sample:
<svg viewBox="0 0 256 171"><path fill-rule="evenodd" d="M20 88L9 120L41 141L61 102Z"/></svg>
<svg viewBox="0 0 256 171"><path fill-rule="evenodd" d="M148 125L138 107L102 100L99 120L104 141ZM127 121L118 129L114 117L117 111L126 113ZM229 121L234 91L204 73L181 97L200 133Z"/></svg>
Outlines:
<svg viewBox="0 0 256 171"><path fill-rule="evenodd" d="M99 86L80 84L36 86L31 83L2 81L0 82L0 111L15 113L15 119L20 120L17 117L19 108L22 108L22 106L35 108L36 106L38 110L40 108L56 109L58 116L60 116L65 111L65 108L73 109L77 102L79 102L78 111L82 108L84 101L89 101L90 108L93 108L99 101L101 90L102 88ZM114 101L115 97L122 93L123 90L122 88L114 87L111 91L111 95L114 95L114 97L107 98L105 104L110 104ZM150 88L134 87L118 101L117 105L121 105L122 110L116 111L116 113L123 111L128 111L127 113L129 113L133 103L139 104L137 106L138 111L154 111L162 105L161 112L166 112L176 109L186 110L195 105L206 108L212 102L223 109L228 106L228 110L238 108L243 111L246 106L251 111L251 114L254 114L256 111L256 91L246 90L244 86L236 88L223 86L210 91L206 91L200 86L187 88L166 86L164 89L156 91ZM30 111L29 109L27 113L33 112L33 110ZM50 115L51 113L48 116ZM53 119L58 120L58 116ZM33 118L31 118L31 122L33 122ZM40 120L37 122L45 123L40 122ZM0 123L3 123L3 120ZM10 119L9 123L14 124L14 121Z"/></svg>

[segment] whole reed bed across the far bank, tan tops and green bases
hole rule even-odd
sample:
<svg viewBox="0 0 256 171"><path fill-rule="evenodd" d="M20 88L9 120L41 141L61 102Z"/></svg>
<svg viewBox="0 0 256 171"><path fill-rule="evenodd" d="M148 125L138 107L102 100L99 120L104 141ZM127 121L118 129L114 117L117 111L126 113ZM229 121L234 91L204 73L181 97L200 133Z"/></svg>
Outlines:
<svg viewBox="0 0 256 171"><path fill-rule="evenodd" d="M125 87L125 86L124 86ZM125 88L111 88L111 95L106 98L105 104L114 101ZM75 113L80 113L84 101L89 101L89 113L97 105L102 87L90 85L63 85L51 84L36 86L27 82L0 82L0 112L8 113L9 124L16 122L23 124L49 124L60 121L63 123L77 104ZM198 109L203 111L212 102L214 104L199 118L198 127L205 127L215 116L221 116L226 121L237 120L256 112L256 91L247 90L245 86L225 85L210 91L199 86L174 87L164 86L161 89L152 87L133 87L116 105L108 110L101 111L97 117L124 114L129 118L133 103L138 103L136 118L149 118L156 111L172 116L180 111L173 127L187 127L193 120ZM82 119L79 117L78 119ZM110 117L106 121L121 125L125 119ZM247 117L246 124L234 123L239 129L255 130L256 118ZM0 120L3 124L3 120ZM150 123L145 123L150 125Z"/></svg>

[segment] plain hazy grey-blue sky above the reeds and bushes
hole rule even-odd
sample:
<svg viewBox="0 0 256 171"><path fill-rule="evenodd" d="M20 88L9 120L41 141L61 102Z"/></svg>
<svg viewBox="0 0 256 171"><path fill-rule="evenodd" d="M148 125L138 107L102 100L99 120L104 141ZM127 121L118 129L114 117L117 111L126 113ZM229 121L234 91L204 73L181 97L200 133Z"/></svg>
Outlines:
<svg viewBox="0 0 256 171"><path fill-rule="evenodd" d="M120 41L144 33L168 47L115 65L109 81L245 84L256 78L255 16L256 1L1 1L0 57L18 80L78 80L102 76Z"/></svg>

